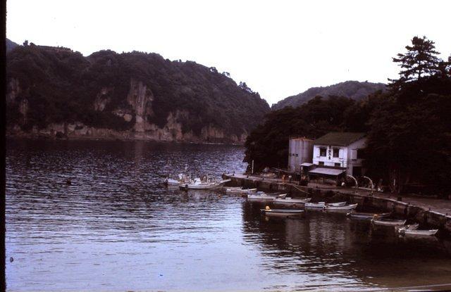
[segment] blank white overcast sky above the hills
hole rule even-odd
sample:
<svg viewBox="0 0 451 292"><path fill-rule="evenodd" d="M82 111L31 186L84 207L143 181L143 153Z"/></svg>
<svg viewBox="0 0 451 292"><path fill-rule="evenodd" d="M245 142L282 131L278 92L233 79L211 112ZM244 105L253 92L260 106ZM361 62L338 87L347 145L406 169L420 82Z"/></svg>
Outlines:
<svg viewBox="0 0 451 292"><path fill-rule="evenodd" d="M7 0L6 37L88 56L159 53L230 72L268 103L346 80L387 82L412 37L451 54L451 1Z"/></svg>

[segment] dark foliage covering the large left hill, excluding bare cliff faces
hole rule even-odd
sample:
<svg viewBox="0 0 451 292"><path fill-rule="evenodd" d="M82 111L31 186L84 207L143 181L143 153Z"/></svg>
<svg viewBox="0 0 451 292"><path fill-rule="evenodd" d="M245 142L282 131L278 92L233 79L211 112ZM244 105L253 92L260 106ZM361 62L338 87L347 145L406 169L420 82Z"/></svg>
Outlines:
<svg viewBox="0 0 451 292"><path fill-rule="evenodd" d="M18 46L7 57L8 80L19 80L22 94L29 101L27 125L45 127L51 122L80 121L93 127L131 129L135 121L125 122L113 115L118 108L131 110L127 101L130 80L143 82L154 97L153 114L147 119L159 127L166 125L169 113L183 110L185 132L200 134L209 124L226 134L246 134L268 112L259 94L240 88L216 68L187 61L169 61L156 53L118 54L98 51L88 57L66 48ZM103 112L94 110L94 99L102 88L111 89L111 101ZM8 122L20 120L17 103L8 111ZM11 114L10 114L11 113Z"/></svg>

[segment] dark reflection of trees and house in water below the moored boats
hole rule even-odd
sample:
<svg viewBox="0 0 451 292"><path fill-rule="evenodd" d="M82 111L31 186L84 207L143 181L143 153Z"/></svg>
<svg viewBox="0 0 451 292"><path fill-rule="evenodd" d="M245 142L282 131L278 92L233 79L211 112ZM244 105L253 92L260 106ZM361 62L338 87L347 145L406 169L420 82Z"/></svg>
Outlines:
<svg viewBox="0 0 451 292"><path fill-rule="evenodd" d="M311 274L311 281L318 283L294 284L296 289L450 281L449 239L403 237L393 228L373 229L367 221L317 211L307 212L303 219L273 220L260 215L262 206L243 205L245 240L259 244L267 259L262 267L268 272ZM431 274L425 276L425 271Z"/></svg>

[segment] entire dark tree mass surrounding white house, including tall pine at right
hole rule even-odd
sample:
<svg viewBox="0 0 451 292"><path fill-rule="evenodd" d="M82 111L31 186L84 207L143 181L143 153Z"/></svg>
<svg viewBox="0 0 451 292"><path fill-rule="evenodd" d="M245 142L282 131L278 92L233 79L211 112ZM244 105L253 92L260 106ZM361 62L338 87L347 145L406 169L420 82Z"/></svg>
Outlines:
<svg viewBox="0 0 451 292"><path fill-rule="evenodd" d="M412 39L400 63L399 80L389 91L361 101L315 98L299 108L266 116L246 141L245 161L255 169L285 167L290 135L316 138L332 131L367 132L365 166L373 181L383 179L393 191L421 186L428 193L451 188L451 56L435 55L433 42Z"/></svg>

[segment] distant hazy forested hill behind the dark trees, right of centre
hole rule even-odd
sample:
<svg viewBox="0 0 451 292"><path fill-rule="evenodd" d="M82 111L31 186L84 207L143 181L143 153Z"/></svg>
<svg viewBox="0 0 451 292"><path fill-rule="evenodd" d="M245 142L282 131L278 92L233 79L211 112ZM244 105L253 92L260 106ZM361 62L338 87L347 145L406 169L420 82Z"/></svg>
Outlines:
<svg viewBox="0 0 451 292"><path fill-rule="evenodd" d="M307 103L315 96L323 96L325 98L328 96L344 96L359 101L378 90L385 90L385 84L346 81L327 87L311 87L301 94L288 96L286 99L273 104L271 109L280 110L280 108L285 108L285 106L292 106L293 108L296 108L297 106L302 106L304 103Z"/></svg>

